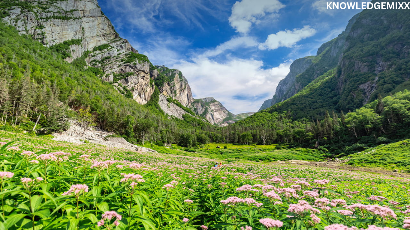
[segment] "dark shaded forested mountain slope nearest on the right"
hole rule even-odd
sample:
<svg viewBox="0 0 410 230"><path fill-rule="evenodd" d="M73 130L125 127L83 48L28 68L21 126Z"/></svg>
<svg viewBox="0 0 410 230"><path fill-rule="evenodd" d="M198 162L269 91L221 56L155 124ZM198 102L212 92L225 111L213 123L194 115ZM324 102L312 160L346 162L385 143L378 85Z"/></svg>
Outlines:
<svg viewBox="0 0 410 230"><path fill-rule="evenodd" d="M270 112L298 111L296 119L323 117L326 110L348 112L379 94L384 97L410 88L410 15L364 10L355 18L334 77L307 94L269 108Z"/></svg>

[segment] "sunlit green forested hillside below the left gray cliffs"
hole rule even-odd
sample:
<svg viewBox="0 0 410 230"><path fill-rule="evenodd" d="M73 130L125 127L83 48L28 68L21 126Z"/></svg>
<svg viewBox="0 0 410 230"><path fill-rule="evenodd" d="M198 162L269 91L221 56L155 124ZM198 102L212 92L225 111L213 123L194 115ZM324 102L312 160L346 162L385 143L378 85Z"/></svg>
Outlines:
<svg viewBox="0 0 410 230"><path fill-rule="evenodd" d="M181 134L195 136L200 130L196 126L211 126L191 116L189 123L170 120L158 109L157 88L151 100L140 105L102 82L94 68L85 68L84 58L68 63L54 47L20 36L3 23L0 44L1 129L33 131L40 117L36 129L51 133L66 129L68 118L88 119L130 141L175 143Z"/></svg>

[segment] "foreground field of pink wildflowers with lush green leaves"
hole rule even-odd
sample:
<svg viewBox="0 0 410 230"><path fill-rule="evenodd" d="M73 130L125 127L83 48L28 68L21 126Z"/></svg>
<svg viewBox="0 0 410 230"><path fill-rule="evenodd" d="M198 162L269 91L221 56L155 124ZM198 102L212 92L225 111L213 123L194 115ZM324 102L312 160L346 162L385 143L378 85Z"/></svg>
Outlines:
<svg viewBox="0 0 410 230"><path fill-rule="evenodd" d="M0 229L410 229L410 180L0 132ZM220 160L218 160L220 161Z"/></svg>

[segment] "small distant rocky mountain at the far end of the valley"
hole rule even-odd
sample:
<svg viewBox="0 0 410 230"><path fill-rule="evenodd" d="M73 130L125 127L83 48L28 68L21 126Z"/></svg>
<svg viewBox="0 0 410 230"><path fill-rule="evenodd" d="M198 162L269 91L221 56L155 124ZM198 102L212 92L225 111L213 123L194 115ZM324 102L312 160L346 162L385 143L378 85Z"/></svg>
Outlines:
<svg viewBox="0 0 410 230"><path fill-rule="evenodd" d="M191 104L192 110L204 117L211 124L216 124L219 126L227 126L228 124L233 124L238 120L242 120L253 113L241 113L235 115L229 112L221 102L215 100L213 97L205 97L202 99L195 99Z"/></svg>

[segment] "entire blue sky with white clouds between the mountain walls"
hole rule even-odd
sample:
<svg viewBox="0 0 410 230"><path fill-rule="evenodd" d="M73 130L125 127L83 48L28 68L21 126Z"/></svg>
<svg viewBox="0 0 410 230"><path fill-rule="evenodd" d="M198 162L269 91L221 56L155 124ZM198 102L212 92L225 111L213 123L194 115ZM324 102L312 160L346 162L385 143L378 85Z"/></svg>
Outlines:
<svg viewBox="0 0 410 230"><path fill-rule="evenodd" d="M234 114L256 112L294 60L316 55L361 11L326 2L98 0L139 53L181 70L194 98L214 97Z"/></svg>

